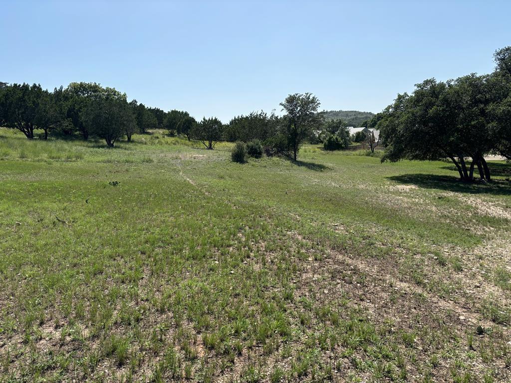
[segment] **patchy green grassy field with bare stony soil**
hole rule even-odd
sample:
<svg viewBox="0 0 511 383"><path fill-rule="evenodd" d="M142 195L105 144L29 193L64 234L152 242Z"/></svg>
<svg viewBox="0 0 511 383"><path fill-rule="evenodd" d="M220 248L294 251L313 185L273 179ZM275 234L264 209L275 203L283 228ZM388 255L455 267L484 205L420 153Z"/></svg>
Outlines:
<svg viewBox="0 0 511 383"><path fill-rule="evenodd" d="M1 382L511 381L511 165L201 145L0 129Z"/></svg>

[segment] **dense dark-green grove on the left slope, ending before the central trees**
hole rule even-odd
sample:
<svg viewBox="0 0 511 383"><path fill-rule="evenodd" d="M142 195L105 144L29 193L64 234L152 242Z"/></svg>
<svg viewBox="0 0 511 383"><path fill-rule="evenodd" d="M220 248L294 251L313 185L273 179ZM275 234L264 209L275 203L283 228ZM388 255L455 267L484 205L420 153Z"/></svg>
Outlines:
<svg viewBox="0 0 511 383"><path fill-rule="evenodd" d="M0 83L0 126L18 129L28 139L36 130L48 139L50 131L64 136L104 139L109 147L126 136L150 129L168 129L171 134L190 132L197 124L187 112L146 107L127 101L126 93L97 83L71 83L53 92L38 84Z"/></svg>

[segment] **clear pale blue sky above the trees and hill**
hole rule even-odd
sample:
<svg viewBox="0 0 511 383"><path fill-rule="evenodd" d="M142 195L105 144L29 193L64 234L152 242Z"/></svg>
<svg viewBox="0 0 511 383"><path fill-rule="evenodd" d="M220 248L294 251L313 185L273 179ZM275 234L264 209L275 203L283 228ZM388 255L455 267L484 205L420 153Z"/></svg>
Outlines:
<svg viewBox="0 0 511 383"><path fill-rule="evenodd" d="M95 81L195 117L312 92L378 112L430 77L489 73L510 1L0 0L0 81Z"/></svg>

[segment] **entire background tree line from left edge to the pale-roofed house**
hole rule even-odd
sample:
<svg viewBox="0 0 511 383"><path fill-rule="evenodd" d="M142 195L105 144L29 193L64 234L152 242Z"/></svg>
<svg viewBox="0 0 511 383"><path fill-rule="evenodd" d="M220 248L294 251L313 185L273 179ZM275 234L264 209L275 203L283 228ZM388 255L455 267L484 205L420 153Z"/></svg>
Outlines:
<svg viewBox="0 0 511 383"><path fill-rule="evenodd" d="M97 83L75 82L53 91L38 84L0 83L0 126L18 129L28 139L40 130L44 139L50 132L84 140L99 137L113 147L122 137L129 142L135 133L160 128L198 140L210 150L220 140L254 141L252 147L261 145L267 155L295 160L305 141L323 143L327 150L350 145L346 124L340 119L326 121L311 93L290 94L280 106L282 116L260 111L234 117L228 124L216 117L197 122L188 112L146 107Z"/></svg>

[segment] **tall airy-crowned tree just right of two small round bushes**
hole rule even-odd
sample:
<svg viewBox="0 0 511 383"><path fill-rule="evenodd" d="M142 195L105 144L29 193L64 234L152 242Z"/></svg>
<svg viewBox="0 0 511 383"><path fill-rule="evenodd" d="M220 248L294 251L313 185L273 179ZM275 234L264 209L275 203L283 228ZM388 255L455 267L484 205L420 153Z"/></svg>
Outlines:
<svg viewBox="0 0 511 383"><path fill-rule="evenodd" d="M284 134L293 159L296 160L301 144L311 135L313 129L321 126L323 116L317 113L320 102L312 93L295 93L288 95L280 105L282 110L286 111L283 117Z"/></svg>

